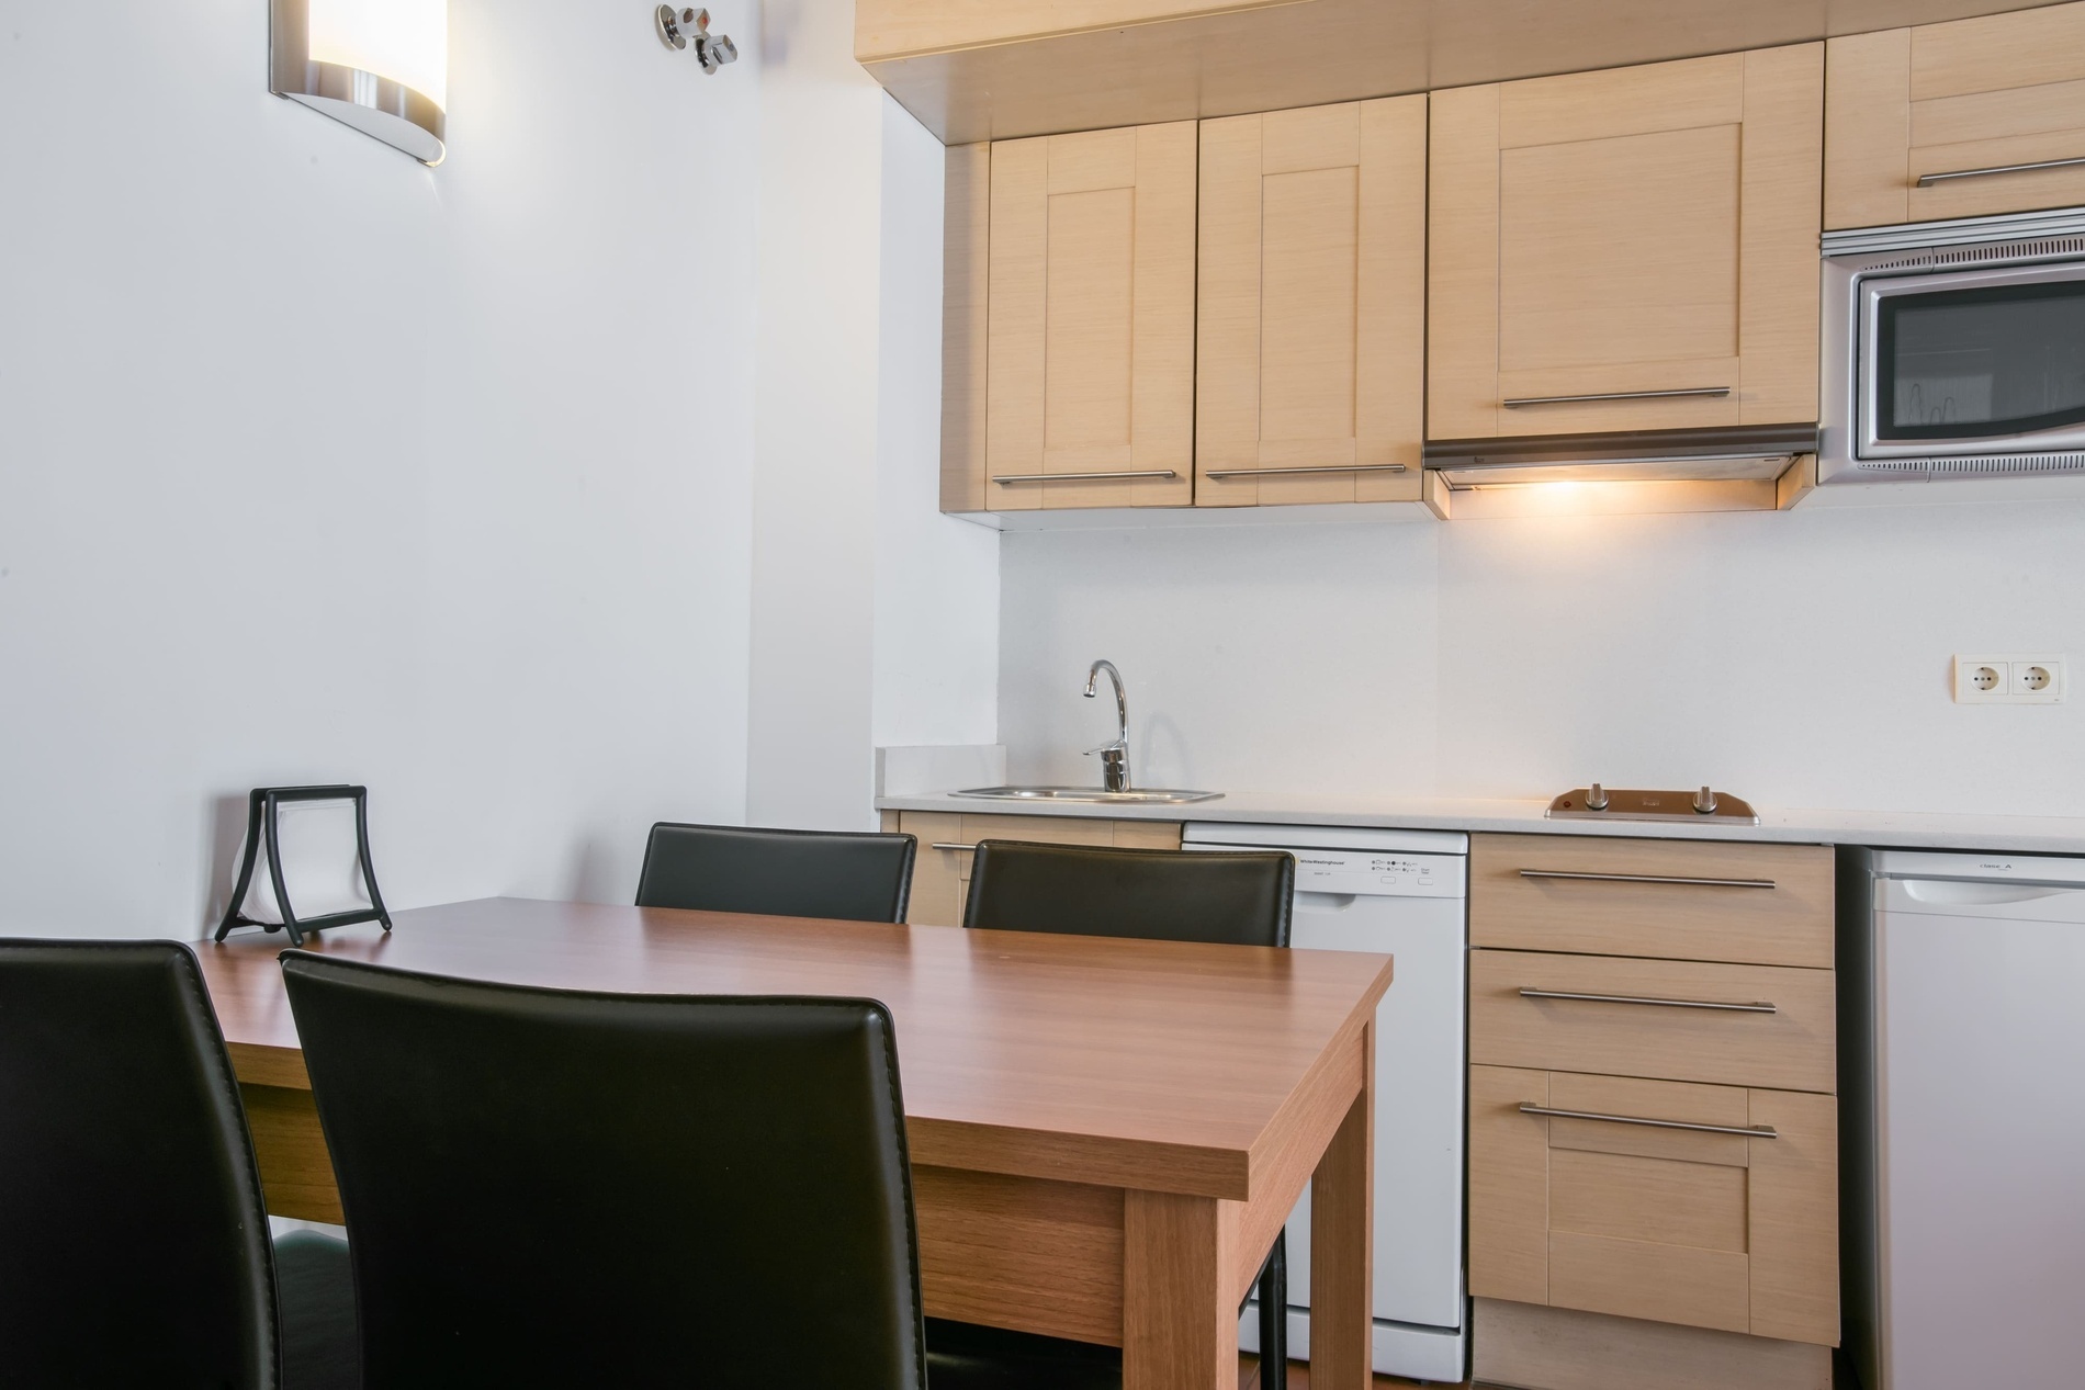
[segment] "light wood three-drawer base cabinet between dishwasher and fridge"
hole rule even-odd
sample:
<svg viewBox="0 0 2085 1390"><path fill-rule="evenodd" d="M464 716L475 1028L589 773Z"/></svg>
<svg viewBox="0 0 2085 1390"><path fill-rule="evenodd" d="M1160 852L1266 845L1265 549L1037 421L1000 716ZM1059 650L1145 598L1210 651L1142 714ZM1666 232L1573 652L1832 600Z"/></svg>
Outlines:
<svg viewBox="0 0 2085 1390"><path fill-rule="evenodd" d="M1829 1384L1833 882L1822 846L1472 836L1478 1380L1576 1384L1520 1359L1562 1338Z"/></svg>

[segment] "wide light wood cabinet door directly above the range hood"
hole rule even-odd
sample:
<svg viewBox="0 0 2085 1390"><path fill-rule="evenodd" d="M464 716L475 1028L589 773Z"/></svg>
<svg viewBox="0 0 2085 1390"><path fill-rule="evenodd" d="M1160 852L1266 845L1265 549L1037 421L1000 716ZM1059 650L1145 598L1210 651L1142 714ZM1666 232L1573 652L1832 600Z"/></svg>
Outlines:
<svg viewBox="0 0 2085 1390"><path fill-rule="evenodd" d="M1822 44L1434 92L1426 436L1814 421L1822 108Z"/></svg>

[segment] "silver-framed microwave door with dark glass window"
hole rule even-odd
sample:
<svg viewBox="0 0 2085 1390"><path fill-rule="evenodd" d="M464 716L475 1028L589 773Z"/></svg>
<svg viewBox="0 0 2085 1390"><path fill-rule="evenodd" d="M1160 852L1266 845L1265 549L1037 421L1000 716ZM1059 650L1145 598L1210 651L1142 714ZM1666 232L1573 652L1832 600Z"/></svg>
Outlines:
<svg viewBox="0 0 2085 1390"><path fill-rule="evenodd" d="M2085 267L1862 286L1860 454L2085 446Z"/></svg>

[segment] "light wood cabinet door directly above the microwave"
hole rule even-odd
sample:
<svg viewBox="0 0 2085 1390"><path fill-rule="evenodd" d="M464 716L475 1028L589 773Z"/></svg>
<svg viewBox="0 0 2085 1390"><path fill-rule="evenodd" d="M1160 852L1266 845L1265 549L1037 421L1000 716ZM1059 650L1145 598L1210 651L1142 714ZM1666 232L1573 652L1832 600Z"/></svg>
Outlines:
<svg viewBox="0 0 2085 1390"><path fill-rule="evenodd" d="M1839 38L1826 71L1826 227L2085 204L2085 4Z"/></svg>

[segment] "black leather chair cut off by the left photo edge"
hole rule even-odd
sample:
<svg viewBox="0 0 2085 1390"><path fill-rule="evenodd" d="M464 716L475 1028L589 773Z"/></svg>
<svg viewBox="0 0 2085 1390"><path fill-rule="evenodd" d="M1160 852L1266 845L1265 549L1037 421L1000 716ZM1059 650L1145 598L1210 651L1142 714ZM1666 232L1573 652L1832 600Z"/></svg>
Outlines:
<svg viewBox="0 0 2085 1390"><path fill-rule="evenodd" d="M0 940L0 1386L359 1384L346 1246L269 1240L190 948Z"/></svg>

